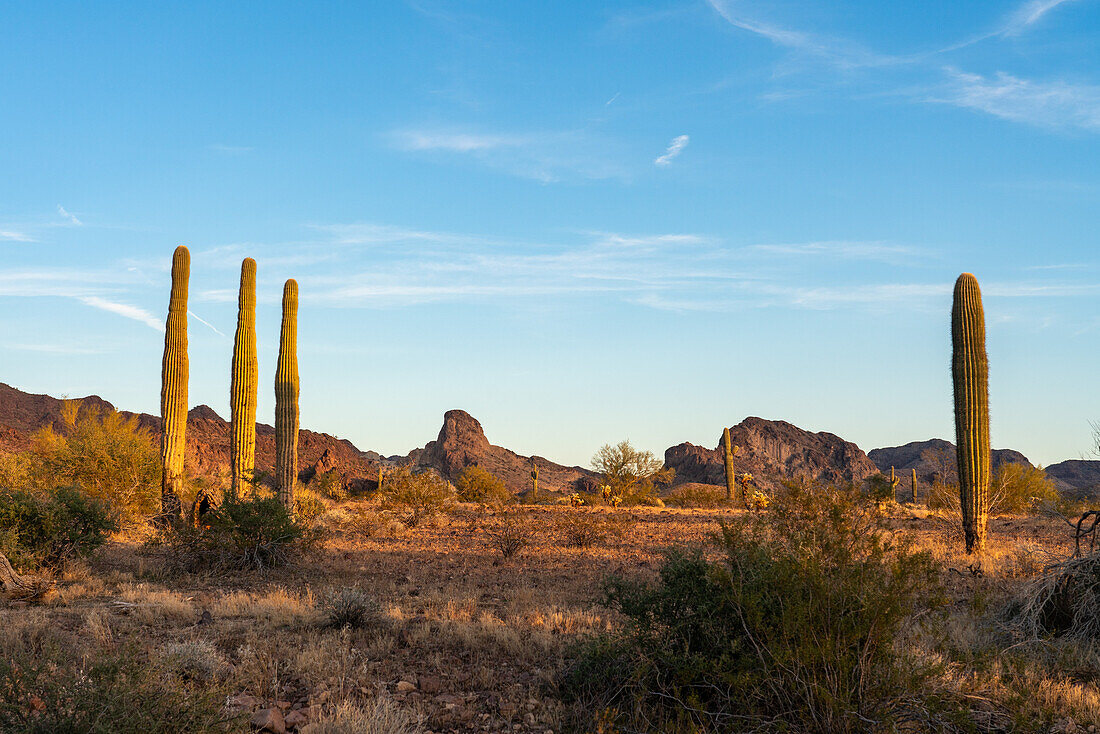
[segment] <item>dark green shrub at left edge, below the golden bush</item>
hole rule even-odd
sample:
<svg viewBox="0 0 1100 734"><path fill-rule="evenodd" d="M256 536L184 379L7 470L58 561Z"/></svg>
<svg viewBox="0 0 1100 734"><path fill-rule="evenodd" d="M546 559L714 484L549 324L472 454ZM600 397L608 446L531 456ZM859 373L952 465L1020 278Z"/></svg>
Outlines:
<svg viewBox="0 0 1100 734"><path fill-rule="evenodd" d="M76 487L0 490L0 552L21 571L62 570L117 527L107 505Z"/></svg>

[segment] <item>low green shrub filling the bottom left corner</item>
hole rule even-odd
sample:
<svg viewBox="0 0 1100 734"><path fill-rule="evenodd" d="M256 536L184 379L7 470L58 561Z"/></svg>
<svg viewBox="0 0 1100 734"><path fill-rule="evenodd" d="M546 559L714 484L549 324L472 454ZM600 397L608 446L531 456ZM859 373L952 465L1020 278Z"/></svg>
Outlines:
<svg viewBox="0 0 1100 734"><path fill-rule="evenodd" d="M55 640L0 656L0 731L7 734L229 732L224 692L165 676L133 649L74 655Z"/></svg>

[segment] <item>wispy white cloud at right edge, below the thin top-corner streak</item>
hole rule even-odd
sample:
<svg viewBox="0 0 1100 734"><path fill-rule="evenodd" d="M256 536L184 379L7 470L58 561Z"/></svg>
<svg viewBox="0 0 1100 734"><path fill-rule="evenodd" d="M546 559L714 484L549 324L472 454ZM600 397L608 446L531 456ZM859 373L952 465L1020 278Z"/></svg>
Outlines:
<svg viewBox="0 0 1100 734"><path fill-rule="evenodd" d="M946 70L948 83L933 101L1032 125L1100 132L1100 86Z"/></svg>

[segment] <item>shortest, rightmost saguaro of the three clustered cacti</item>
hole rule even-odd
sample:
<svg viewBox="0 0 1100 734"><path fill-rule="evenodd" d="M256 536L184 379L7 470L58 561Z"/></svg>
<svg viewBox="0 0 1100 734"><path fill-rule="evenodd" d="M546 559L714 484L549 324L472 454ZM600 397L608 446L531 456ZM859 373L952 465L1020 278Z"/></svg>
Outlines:
<svg viewBox="0 0 1100 734"><path fill-rule="evenodd" d="M283 328L275 369L275 482L279 501L294 508L298 479L298 282L283 286Z"/></svg>

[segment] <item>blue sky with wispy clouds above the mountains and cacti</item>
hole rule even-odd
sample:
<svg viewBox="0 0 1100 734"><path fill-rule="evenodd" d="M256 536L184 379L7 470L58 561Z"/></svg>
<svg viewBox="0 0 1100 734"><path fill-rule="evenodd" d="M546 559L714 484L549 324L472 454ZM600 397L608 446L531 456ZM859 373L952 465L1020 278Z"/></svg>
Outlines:
<svg viewBox="0 0 1100 734"><path fill-rule="evenodd" d="M258 417L300 286L301 425L406 453L463 408L587 464L746 416L952 438L977 275L992 441L1100 419L1100 0L4 2L0 382Z"/></svg>

